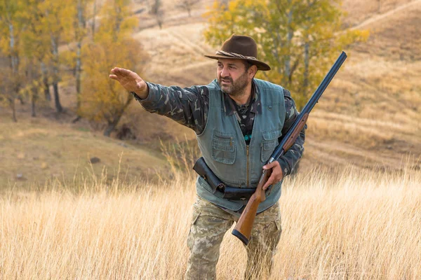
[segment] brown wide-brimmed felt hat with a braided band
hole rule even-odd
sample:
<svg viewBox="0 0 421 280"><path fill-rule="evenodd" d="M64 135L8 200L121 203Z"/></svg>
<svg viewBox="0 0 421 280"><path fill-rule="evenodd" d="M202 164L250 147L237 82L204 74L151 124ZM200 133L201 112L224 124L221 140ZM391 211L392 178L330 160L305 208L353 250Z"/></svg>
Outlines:
<svg viewBox="0 0 421 280"><path fill-rule="evenodd" d="M243 59L258 66L258 70L270 70L269 65L258 60L258 45L250 36L232 34L232 36L222 44L221 50L218 50L215 55L205 56L212 59Z"/></svg>

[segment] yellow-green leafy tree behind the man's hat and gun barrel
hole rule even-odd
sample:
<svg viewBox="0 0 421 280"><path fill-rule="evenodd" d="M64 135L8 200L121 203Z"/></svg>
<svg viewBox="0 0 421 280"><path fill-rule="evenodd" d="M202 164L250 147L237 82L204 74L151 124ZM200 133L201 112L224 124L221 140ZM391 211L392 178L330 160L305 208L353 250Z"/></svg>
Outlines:
<svg viewBox="0 0 421 280"><path fill-rule="evenodd" d="M215 1L204 34L215 47L234 33L255 38L259 58L272 67L257 77L295 93L301 108L340 50L368 37L367 31L342 29L343 15L338 0Z"/></svg>

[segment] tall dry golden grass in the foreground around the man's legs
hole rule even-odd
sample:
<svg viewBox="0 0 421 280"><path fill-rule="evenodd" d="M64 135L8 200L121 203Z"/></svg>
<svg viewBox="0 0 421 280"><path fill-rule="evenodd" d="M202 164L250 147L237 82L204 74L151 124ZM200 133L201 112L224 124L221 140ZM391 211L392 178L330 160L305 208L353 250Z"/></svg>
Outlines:
<svg viewBox="0 0 421 280"><path fill-rule="evenodd" d="M58 183L0 196L0 279L182 279L194 179ZM421 171L313 170L283 183L271 279L421 279ZM246 251L227 232L219 279Z"/></svg>

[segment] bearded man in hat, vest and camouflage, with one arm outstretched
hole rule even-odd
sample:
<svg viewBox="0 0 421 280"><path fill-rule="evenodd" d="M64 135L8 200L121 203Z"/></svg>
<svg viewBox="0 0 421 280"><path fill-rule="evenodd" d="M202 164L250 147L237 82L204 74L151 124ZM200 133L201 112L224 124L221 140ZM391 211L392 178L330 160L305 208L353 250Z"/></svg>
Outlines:
<svg viewBox="0 0 421 280"><path fill-rule="evenodd" d="M164 87L120 68L112 69L109 77L131 91L147 111L192 128L206 164L227 186L256 188L262 168L272 169L263 187L267 198L260 204L246 246L245 277L269 275L281 236L281 181L301 158L305 132L283 157L263 166L298 116L290 92L254 78L258 70L268 71L270 66L258 60L257 45L249 36L234 34L216 55L206 57L218 59L217 79L209 85ZM200 176L196 192L186 279L215 279L222 237L238 221L248 200L227 200Z"/></svg>

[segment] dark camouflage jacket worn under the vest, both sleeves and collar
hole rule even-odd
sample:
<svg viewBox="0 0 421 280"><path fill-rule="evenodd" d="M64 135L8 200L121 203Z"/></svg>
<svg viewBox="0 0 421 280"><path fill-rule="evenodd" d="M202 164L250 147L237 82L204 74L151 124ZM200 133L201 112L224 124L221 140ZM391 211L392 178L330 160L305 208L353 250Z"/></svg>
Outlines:
<svg viewBox="0 0 421 280"><path fill-rule="evenodd" d="M175 120L181 125L191 128L196 134L201 134L206 126L209 108L209 92L204 85L196 85L192 87L166 87L154 83L147 83L149 87L149 95L146 99L141 99L135 92L131 92L145 110L150 113L158 113ZM253 86L254 83L253 83ZM254 92L257 92L256 90ZM283 124L282 134L288 132L291 125L293 125L295 118L298 116L298 111L295 102L288 90L283 90L286 106L285 123ZM234 114L232 106L229 106L229 95L225 94L224 109L228 115ZM250 114L261 113L262 106L260 104L260 97L255 94L253 100L250 102L252 108L249 110ZM252 118L254 119L254 115ZM307 125L306 125L307 127ZM293 168L300 160L303 145L305 141L305 129L300 132L295 144L279 158L278 162L283 170L283 176L290 174Z"/></svg>

